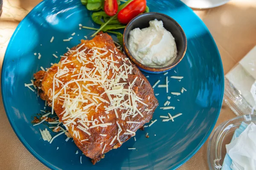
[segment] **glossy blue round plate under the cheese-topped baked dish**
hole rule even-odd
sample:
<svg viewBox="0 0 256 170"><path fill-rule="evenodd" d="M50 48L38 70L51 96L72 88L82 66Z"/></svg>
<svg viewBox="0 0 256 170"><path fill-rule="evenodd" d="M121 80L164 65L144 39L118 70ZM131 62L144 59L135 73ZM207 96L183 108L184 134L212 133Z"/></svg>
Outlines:
<svg viewBox="0 0 256 170"><path fill-rule="evenodd" d="M32 126L32 116L44 110L44 101L35 92L24 87L30 83L33 74L40 67L49 68L58 61L52 54L64 54L66 47L73 47L84 36L94 31L79 29L79 24L99 28L90 18L90 12L80 0L45 0L36 6L19 24L13 34L2 68L2 95L6 114L25 147L42 163L51 169L175 169L193 156L207 140L218 118L224 89L224 75L221 58L211 34L193 11L179 0L148 0L151 11L161 12L177 20L188 40L186 56L167 75L146 74L153 85L158 79L165 84L169 77L169 93L165 88L155 88L159 94L160 107L167 101L175 110L162 110L154 113L157 122L145 131L138 131L133 139L122 147L111 150L96 165L83 156L76 145L65 135L56 138L52 144L44 141L39 132L47 126ZM63 39L76 35L68 42ZM54 40L50 40L54 36ZM58 53L56 53L57 51ZM40 53L41 59L34 53ZM171 79L170 76L183 76ZM170 92L185 91L180 96ZM179 100L179 101L178 101ZM174 122L162 122L160 116L183 115ZM148 133L149 138L145 138ZM56 133L51 131L52 136ZM57 147L59 149L57 150ZM128 150L136 147L136 150ZM79 153L76 154L76 150ZM80 156L82 156L80 163Z"/></svg>

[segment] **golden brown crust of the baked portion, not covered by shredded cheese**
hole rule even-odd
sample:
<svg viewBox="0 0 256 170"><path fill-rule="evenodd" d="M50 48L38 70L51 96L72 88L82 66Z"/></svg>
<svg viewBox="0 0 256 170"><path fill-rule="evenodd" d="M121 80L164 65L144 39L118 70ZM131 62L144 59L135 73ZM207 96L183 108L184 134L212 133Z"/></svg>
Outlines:
<svg viewBox="0 0 256 170"><path fill-rule="evenodd" d="M89 41L82 40L81 44L77 45L73 49L77 49L77 47L79 47L83 43L85 45L82 48L80 48L79 51L83 50L84 48L87 48L86 53L88 53L88 51L90 51L94 46L96 46L98 48L107 48L108 50L111 50L111 51L117 51L116 53L113 53L113 58L116 59L116 61L119 61L119 63L115 64L117 67L123 65L124 63L126 65L132 65L132 67L133 67L132 73L129 74L128 79L126 79L123 82L131 83L137 77L136 78L137 80L135 81L132 89L137 94L138 97L142 98L142 102L144 102L145 104L148 105L148 106L145 106L141 103L137 104L137 108L140 108L140 112L143 114L143 117L142 116L135 116L134 118L132 116L129 117L130 120L128 120L128 121L140 122L139 124L131 125L131 124L127 123L127 120L120 119L121 113L123 113L124 111L117 109L119 118L116 118L116 115L113 110L110 111L108 113L109 119L105 119L105 123L112 123L112 125L107 126L107 127L90 128L88 130L88 132L91 135L84 133L84 131L79 130L75 126L74 130L78 130L79 134L80 134L80 139L79 139L73 135L71 127L68 127L68 130L69 130L70 134L72 135L76 145L79 147L80 150L82 150L84 155L90 157L92 159L93 164L95 164L97 161L99 161L100 159L102 159L104 157L104 153L107 153L108 151L112 150L113 148L118 148L121 146L121 144L119 144L119 142L117 140L115 140L113 142L113 144L110 144L113 137L116 136L116 134L118 133L119 128L116 124L116 121L118 121L122 127L122 132L119 135L119 139L122 143L126 142L128 139L131 138L131 135L123 134L124 132L126 132L126 129L136 132L139 128L143 127L143 125L145 123L149 122L152 119L152 115L154 113L155 108L157 108L157 106L158 106L158 102L154 96L154 91L153 91L151 85L149 84L148 80L145 78L145 76L140 72L140 70L133 63L129 62L128 60L125 60L126 56L116 48L115 44L113 43L112 38L108 34L102 33L101 35L97 35L95 38L93 38L93 40L89 40ZM111 52L109 52L109 53L111 53ZM81 66L83 66L82 63L80 63L79 61L76 60L76 57L73 56L74 54L75 53L70 54L68 56L68 59L70 61L73 61L73 65L71 65L71 63L65 64L65 66L67 68L74 69L74 68L81 68ZM87 55L87 56L89 56L89 55ZM121 57L121 58L118 59L117 56ZM48 102L51 102L51 99L52 99L50 89L52 89L53 77L56 74L58 67L64 68L64 65L61 65L60 63L58 63L58 64L53 65L49 69L48 72L43 73L42 71L38 71L38 73L34 74L34 77L36 78L35 85L37 85L38 87L41 87L41 90L43 91L43 93L41 93L40 96L44 100L49 99ZM86 65L86 67L94 68L95 66L92 63L88 63ZM74 74L77 74L77 73L74 73ZM73 77L71 77L72 75L73 74L62 77L61 81L64 83L69 82L70 80L73 79ZM112 77L112 73L110 73L108 78L111 78L111 77ZM42 82L40 81L40 79L42 79ZM122 82L122 81L120 81L120 82ZM79 83L83 84L84 82L79 82ZM129 85L126 84L126 85L124 85L124 88L128 88L128 86ZM71 83L69 85L69 87L77 88L77 85L76 85L76 83ZM89 86L89 87L90 87L91 93L102 94L104 92L104 89L101 87L97 87L97 88L95 88L93 86ZM61 87L59 87L59 88L55 87L55 94L60 90L61 90ZM103 95L102 98L109 101L107 95ZM128 97L125 97L124 100L126 100L127 98ZM62 117L63 117L63 114L61 114L61 113L64 111L64 108L62 107L62 105L63 105L63 103L61 100L58 100L58 101L55 100L54 110L55 110L56 114L58 115L60 121L62 120ZM91 116L93 116L94 118L102 116L102 115L106 116L104 106L108 107L108 105L106 103L102 103L99 106L97 111L95 111L95 109L91 110L90 113L88 113L89 118ZM145 111L145 109L152 109L152 110ZM99 134L107 134L107 136L99 136ZM88 140L81 142L84 139L88 139ZM105 146L105 150L104 150L104 153L102 153L104 146Z"/></svg>

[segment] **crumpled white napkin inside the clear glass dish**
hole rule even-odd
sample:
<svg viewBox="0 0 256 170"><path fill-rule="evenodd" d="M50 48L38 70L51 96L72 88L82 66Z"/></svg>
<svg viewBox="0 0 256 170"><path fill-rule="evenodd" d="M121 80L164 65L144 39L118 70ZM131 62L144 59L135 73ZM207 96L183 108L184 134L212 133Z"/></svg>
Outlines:
<svg viewBox="0 0 256 170"><path fill-rule="evenodd" d="M256 125L251 122L226 148L232 170L256 170Z"/></svg>

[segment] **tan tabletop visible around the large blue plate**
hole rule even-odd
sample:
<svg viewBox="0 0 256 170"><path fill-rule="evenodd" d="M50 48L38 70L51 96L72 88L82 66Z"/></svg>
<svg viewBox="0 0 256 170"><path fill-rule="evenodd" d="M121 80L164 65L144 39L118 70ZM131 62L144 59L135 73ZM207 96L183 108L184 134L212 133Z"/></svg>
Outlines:
<svg viewBox="0 0 256 170"><path fill-rule="evenodd" d="M0 67L6 47L19 22L41 0L4 0L0 17ZM209 28L224 67L224 74L256 45L256 0L231 0L224 6L211 9L193 9ZM232 119L236 115L223 103L215 125ZM0 169L5 170L47 170L21 144L7 119L0 97ZM207 142L178 170L206 170Z"/></svg>

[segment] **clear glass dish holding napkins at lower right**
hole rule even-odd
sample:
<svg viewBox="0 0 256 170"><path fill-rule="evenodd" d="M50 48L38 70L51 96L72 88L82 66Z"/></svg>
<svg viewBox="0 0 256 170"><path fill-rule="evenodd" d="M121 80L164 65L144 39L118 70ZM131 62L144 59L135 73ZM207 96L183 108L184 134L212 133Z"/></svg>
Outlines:
<svg viewBox="0 0 256 170"><path fill-rule="evenodd" d="M209 170L221 170L226 151L226 144L229 144L235 130L239 128L241 123L250 122L256 124L256 115L244 115L223 122L212 132L207 146L207 161Z"/></svg>

